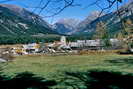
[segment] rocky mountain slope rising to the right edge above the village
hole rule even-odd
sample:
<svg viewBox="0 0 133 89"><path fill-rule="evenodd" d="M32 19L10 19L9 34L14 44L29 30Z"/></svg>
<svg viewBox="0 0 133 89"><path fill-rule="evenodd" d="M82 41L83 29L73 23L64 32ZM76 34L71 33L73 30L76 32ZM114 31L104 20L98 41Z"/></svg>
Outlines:
<svg viewBox="0 0 133 89"><path fill-rule="evenodd" d="M133 2L123 5L119 9L119 14L122 20L130 19L133 21ZM74 34L93 34L96 29L96 25L99 22L104 22L110 34L117 33L121 30L120 17L117 11L109 14L103 14L99 18L95 18L98 13L89 15L84 21L77 25L76 32Z"/></svg>

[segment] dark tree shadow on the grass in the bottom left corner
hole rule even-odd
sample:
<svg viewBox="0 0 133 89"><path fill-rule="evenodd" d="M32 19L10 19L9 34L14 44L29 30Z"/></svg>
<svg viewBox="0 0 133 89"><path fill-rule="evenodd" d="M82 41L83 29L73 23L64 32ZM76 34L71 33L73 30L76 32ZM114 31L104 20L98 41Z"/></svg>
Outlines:
<svg viewBox="0 0 133 89"><path fill-rule="evenodd" d="M10 78L0 75L0 89L50 89L56 85L53 80L37 77L30 72L23 72Z"/></svg>

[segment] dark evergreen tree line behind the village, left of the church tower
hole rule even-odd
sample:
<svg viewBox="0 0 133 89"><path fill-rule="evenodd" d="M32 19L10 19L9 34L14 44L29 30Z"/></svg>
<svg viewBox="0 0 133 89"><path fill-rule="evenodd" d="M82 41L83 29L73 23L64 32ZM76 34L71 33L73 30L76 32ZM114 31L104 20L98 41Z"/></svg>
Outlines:
<svg viewBox="0 0 133 89"><path fill-rule="evenodd" d="M53 42L59 37L32 37L32 36L0 36L0 44L28 44L39 42Z"/></svg>

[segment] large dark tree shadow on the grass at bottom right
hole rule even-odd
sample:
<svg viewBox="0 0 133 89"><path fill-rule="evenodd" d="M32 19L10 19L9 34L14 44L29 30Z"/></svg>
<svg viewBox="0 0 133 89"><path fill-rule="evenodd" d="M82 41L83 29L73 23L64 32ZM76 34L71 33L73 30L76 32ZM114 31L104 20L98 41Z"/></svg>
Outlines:
<svg viewBox="0 0 133 89"><path fill-rule="evenodd" d="M66 72L64 85L72 89L133 89L133 75L118 72Z"/></svg>

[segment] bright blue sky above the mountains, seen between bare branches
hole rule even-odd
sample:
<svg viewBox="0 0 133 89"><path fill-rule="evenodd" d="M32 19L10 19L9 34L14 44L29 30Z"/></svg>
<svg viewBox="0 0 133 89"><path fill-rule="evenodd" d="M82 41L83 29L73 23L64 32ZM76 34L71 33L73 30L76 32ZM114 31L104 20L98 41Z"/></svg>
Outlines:
<svg viewBox="0 0 133 89"><path fill-rule="evenodd" d="M3 0L0 0L3 1ZM10 1L10 2L6 2L9 4L15 4L24 8L27 8L30 11L33 11L33 8L29 8L29 7L36 7L38 6L40 0L15 0L15 1ZM44 0L45 3L46 0ZM74 7L69 7L67 9L65 9L63 12L61 12L60 14L58 14L57 16L54 17L50 17L50 18L44 18L46 21L48 21L49 23L54 23L56 21L58 21L61 18L74 18L74 19L79 19L79 20L83 20L85 19L89 13L91 13L92 11L100 11L100 8L98 8L96 5L90 6L88 8L85 8L86 6L88 6L89 4L93 3L95 0L75 0L75 4L80 4L80 6L74 6ZM102 0L103 2L99 2L101 7L105 7L107 6L107 2L105 2L105 0ZM128 0L124 0L123 4L126 3ZM42 4L43 5L43 4ZM61 4L57 4L56 6L61 6ZM46 9L51 9L52 5L49 6ZM108 11L112 11L116 9L116 5L111 8ZM38 9L35 11L35 13L38 14ZM106 13L106 12L105 12ZM47 16L47 15L51 15L50 13L47 13L45 10L40 14L41 16Z"/></svg>

